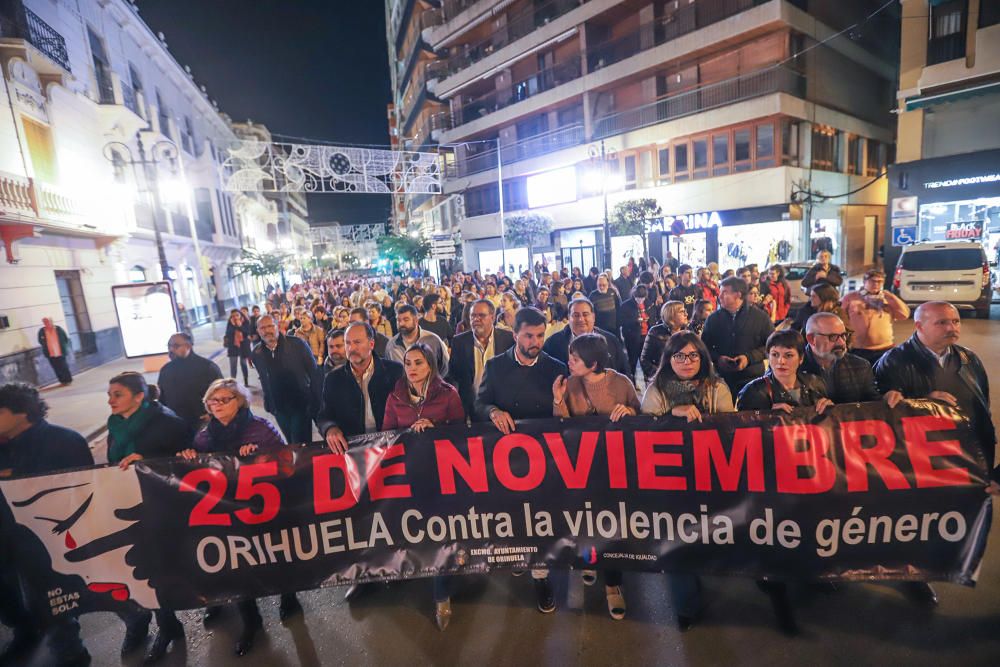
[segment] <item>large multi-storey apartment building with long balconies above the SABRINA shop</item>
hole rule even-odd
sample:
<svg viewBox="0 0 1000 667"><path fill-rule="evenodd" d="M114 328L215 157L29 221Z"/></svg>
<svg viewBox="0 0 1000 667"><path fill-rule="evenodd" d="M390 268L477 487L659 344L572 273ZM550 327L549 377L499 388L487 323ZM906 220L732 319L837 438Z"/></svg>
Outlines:
<svg viewBox="0 0 1000 667"><path fill-rule="evenodd" d="M397 139L436 146L447 176L397 217L459 230L467 270L503 254L508 269L587 271L606 208L652 198L653 256L725 270L825 248L860 271L878 261L894 150L898 7L884 4L387 0ZM553 221L535 257L501 242L501 180L505 215ZM614 267L643 252L610 247Z"/></svg>

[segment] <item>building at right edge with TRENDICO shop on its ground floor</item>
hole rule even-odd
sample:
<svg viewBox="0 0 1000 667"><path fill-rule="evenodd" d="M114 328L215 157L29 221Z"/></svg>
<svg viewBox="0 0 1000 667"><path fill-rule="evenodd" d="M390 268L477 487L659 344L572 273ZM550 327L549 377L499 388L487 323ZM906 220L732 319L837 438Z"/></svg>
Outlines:
<svg viewBox="0 0 1000 667"><path fill-rule="evenodd" d="M1000 2L903 0L885 264L917 240L1000 244Z"/></svg>

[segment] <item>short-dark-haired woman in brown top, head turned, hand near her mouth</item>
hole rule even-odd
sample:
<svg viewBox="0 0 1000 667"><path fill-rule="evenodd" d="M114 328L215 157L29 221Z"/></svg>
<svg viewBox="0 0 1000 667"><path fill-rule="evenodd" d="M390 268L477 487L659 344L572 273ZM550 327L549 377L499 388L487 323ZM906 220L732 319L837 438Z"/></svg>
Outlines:
<svg viewBox="0 0 1000 667"><path fill-rule="evenodd" d="M608 368L611 356L608 341L596 333L583 334L569 344L569 379L563 376L552 383L552 414L556 417L607 415L616 422L639 411L639 397L627 377ZM587 586L597 581L593 570L583 571ZM608 614L616 621L625 618L625 596L622 594L622 573L604 571L604 594Z"/></svg>

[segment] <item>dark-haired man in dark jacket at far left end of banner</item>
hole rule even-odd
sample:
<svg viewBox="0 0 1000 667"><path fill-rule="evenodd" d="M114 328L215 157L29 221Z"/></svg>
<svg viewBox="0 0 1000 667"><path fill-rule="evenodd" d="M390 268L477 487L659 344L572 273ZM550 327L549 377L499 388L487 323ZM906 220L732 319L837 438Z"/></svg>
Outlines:
<svg viewBox="0 0 1000 667"><path fill-rule="evenodd" d="M87 441L79 433L45 420L48 406L38 390L23 382L0 386L0 476L39 475L94 464ZM32 583L19 576L11 545L0 549L0 623L14 630L14 639L0 653L0 664L25 664L42 640L36 614L25 606L23 592ZM37 598L37 595L29 596ZM90 654L80 640L76 618L60 617L49 627L49 647L55 665L89 665Z"/></svg>

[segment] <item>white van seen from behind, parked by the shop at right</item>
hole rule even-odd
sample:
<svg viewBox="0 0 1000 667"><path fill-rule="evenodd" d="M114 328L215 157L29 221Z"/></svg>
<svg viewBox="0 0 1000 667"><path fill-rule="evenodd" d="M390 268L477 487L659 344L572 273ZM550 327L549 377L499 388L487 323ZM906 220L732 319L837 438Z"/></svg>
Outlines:
<svg viewBox="0 0 1000 667"><path fill-rule="evenodd" d="M978 242L914 243L903 248L892 281L908 306L948 301L976 316L990 316L990 263Z"/></svg>

